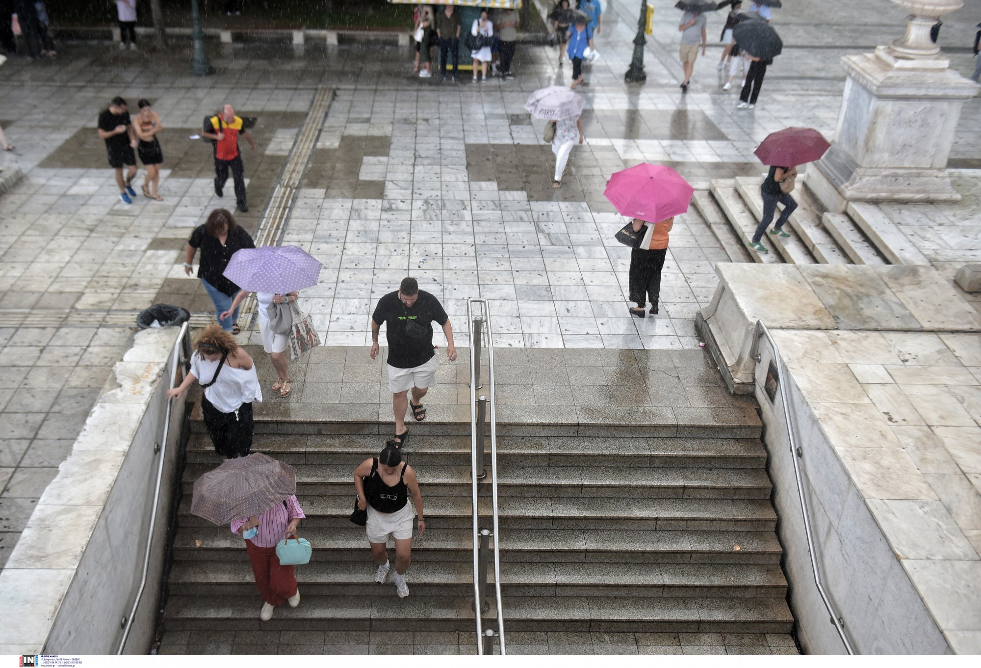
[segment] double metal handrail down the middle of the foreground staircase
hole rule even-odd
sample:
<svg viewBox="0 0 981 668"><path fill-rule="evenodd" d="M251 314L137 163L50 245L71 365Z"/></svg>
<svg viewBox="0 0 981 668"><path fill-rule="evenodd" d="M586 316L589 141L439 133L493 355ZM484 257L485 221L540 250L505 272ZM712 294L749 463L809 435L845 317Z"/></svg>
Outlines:
<svg viewBox="0 0 981 668"><path fill-rule="evenodd" d="M474 325L474 305L482 305L484 313L483 322L487 324L488 337L488 398L490 401L490 515L493 521L493 585L494 596L497 602L497 635L500 641L500 653L506 654L504 642L504 612L500 595L500 544L497 515L497 421L494 410L497 402L494 399L493 388L493 335L490 333L490 305L487 300L469 299L467 300L467 326L470 328L470 446L471 446L471 486L474 503L474 615L477 621L477 653L483 655L486 647L490 647L493 631L488 629L485 634L484 622L481 615L481 607L484 601L484 586L482 585L483 575L481 571L481 531L479 528L480 513L477 508L477 472L484 466L484 448L477 451L477 386L480 384L480 367L477 361L480 359L481 333L479 328ZM475 336L475 329L476 336ZM481 420L480 428L485 429L484 422ZM478 462L478 456L480 462ZM486 549L486 548L485 548ZM486 565L486 562L485 562Z"/></svg>

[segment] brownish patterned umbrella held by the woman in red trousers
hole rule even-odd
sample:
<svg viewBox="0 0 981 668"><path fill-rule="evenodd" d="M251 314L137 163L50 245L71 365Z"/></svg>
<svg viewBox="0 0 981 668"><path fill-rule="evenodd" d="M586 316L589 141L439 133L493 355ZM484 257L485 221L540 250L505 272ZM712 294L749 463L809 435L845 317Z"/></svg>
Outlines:
<svg viewBox="0 0 981 668"><path fill-rule="evenodd" d="M190 512L216 525L262 515L296 493L296 470L262 453L222 462L197 478Z"/></svg>

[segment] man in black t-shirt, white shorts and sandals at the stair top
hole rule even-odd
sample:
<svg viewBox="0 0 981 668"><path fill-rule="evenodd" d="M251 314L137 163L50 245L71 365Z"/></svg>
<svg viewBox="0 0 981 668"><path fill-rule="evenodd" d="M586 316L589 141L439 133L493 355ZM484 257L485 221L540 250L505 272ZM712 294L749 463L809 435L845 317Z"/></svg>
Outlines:
<svg viewBox="0 0 981 668"><path fill-rule="evenodd" d="M416 421L426 418L422 398L436 385L437 355L433 348L433 322L439 323L446 335L446 359L456 360L453 328L439 300L419 289L414 278L402 279L397 292L388 293L378 301L371 321L371 359L378 356L378 334L387 322L388 389L391 390L395 414L395 443L405 442L409 430L405 426L405 410L412 408ZM412 390L412 401L407 393Z"/></svg>

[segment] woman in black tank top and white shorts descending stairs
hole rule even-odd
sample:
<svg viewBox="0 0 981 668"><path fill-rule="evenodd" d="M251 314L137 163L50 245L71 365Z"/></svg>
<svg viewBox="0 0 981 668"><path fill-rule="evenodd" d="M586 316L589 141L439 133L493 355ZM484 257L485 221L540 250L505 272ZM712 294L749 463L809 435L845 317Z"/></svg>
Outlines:
<svg viewBox="0 0 981 668"><path fill-rule="evenodd" d="M385 583L388 576L388 536L395 540L395 591L400 598L409 595L405 572L412 562L412 518L419 514L419 533L426 531L423 519L423 495L416 472L402 462L395 441L388 441L378 457L362 462L354 470L354 488L358 508L368 511L368 542L371 556L378 564L375 582ZM412 504L409 503L412 494ZM415 513L412 506L415 505Z"/></svg>

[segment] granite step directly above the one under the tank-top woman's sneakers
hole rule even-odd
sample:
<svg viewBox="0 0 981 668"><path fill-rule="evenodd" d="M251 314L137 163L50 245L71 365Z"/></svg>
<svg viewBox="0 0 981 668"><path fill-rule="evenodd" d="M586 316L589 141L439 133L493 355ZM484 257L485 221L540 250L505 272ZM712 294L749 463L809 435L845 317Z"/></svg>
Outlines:
<svg viewBox="0 0 981 668"><path fill-rule="evenodd" d="M425 533L412 539L413 563L472 561L473 529L428 524ZM304 520L300 531L314 546L313 561L360 563L368 558L368 539L361 527L348 523L318 528ZM778 564L783 553L776 535L765 530L581 528L501 530L500 550L502 561L517 563ZM241 537L213 525L178 529L174 559L248 562Z"/></svg>

